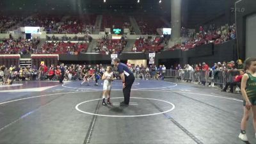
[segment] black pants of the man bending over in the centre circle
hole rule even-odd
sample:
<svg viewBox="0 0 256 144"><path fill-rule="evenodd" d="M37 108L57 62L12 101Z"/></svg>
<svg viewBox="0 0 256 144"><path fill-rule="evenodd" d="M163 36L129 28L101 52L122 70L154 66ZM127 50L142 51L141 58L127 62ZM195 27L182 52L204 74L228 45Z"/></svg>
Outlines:
<svg viewBox="0 0 256 144"><path fill-rule="evenodd" d="M125 88L123 89L124 93L124 103L129 104L130 96L131 96L131 88L134 83L135 77L130 75L129 77L125 77Z"/></svg>

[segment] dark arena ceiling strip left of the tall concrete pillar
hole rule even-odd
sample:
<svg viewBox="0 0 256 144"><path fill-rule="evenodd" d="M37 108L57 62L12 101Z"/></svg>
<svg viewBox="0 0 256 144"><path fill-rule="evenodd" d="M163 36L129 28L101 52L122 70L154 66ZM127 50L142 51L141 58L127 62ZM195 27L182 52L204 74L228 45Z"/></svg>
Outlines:
<svg viewBox="0 0 256 144"><path fill-rule="evenodd" d="M170 0L1 0L1 12L102 13L154 12L170 13Z"/></svg>

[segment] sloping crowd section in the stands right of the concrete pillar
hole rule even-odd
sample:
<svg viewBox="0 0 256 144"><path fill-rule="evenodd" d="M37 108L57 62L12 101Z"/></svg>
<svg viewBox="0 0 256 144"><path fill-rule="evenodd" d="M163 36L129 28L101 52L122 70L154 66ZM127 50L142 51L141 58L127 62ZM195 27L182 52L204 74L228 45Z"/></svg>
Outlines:
<svg viewBox="0 0 256 144"><path fill-rule="evenodd" d="M189 40L182 44L176 44L170 48L171 51L175 49L181 49L182 51L188 51L193 49L198 45L210 44L215 45L227 42L228 40L236 39L236 25L233 24L228 26L221 26L221 28L216 28L214 25L210 25L209 28L203 28L200 26L198 33L189 33L185 28L181 29L182 36L188 36Z"/></svg>

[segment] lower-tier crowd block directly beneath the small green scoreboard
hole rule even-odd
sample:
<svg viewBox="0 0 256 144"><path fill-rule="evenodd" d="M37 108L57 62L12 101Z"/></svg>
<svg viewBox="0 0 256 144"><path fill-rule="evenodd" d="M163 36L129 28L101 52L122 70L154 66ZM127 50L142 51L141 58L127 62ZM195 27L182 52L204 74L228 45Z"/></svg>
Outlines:
<svg viewBox="0 0 256 144"><path fill-rule="evenodd" d="M120 40L109 39L108 35L102 36L98 40L95 52L101 52L102 54L120 54L127 44L125 36L122 36Z"/></svg>

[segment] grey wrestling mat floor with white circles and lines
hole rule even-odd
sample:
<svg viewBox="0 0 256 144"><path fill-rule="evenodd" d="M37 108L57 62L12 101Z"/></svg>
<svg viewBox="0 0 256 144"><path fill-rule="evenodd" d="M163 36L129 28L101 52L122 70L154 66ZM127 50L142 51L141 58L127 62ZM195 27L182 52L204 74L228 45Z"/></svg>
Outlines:
<svg viewBox="0 0 256 144"><path fill-rule="evenodd" d="M135 81L128 107L122 83L113 106L102 106L102 85L50 81L0 87L0 143L235 144L241 95L191 83ZM94 83L92 82L92 85ZM252 118L247 136L256 143Z"/></svg>

